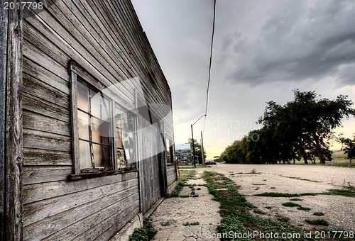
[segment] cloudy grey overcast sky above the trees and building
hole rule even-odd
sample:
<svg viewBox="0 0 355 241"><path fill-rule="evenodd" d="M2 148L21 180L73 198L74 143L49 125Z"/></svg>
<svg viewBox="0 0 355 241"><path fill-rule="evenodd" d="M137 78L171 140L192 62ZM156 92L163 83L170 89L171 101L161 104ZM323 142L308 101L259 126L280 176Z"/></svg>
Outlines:
<svg viewBox="0 0 355 241"><path fill-rule="evenodd" d="M213 0L132 0L173 95L175 143L204 114ZM217 0L212 75L204 130L207 159L241 139L267 101L293 89L355 101L355 1ZM355 120L337 130L349 138Z"/></svg>

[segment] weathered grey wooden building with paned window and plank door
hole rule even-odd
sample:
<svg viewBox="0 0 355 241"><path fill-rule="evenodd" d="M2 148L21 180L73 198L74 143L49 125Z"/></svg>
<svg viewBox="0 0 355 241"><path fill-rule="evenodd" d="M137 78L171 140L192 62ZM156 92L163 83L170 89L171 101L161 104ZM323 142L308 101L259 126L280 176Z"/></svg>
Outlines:
<svg viewBox="0 0 355 241"><path fill-rule="evenodd" d="M131 1L22 4L0 10L0 239L109 240L176 184L168 82Z"/></svg>

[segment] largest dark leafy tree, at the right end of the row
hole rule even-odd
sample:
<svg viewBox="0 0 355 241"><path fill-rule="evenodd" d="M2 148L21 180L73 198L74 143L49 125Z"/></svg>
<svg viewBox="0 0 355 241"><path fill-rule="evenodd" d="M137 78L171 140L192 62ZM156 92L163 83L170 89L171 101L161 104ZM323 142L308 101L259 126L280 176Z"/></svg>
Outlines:
<svg viewBox="0 0 355 241"><path fill-rule="evenodd" d="M319 157L321 163L330 160L330 141L334 128L342 125L342 118L355 115L352 101L339 95L336 100L317 99L315 91L294 90L294 101L280 106L268 102L259 123L273 132L278 141L278 154L285 162L302 156L307 163L310 155Z"/></svg>

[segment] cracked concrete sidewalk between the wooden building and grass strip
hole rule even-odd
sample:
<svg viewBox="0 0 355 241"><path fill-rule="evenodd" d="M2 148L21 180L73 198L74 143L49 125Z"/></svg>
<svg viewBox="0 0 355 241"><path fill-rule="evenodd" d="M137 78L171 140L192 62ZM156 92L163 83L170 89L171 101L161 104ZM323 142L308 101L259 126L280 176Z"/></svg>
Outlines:
<svg viewBox="0 0 355 241"><path fill-rule="evenodd" d="M188 180L187 184L205 184L200 178L201 172L197 172L196 180ZM199 189L200 190L197 190ZM191 189L184 186L180 196L187 196ZM158 230L154 240L156 241L200 241L219 240L213 238L217 233L217 225L221 220L219 215L219 202L212 200L205 186L195 186L196 197L165 198L158 208L152 213L153 224ZM186 223L198 225L186 225ZM185 223L185 225L182 225Z"/></svg>

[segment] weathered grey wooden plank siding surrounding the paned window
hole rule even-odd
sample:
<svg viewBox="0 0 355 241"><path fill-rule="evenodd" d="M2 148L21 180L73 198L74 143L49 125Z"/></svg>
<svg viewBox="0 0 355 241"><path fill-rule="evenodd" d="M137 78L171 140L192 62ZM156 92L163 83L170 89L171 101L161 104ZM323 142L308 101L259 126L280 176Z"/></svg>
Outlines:
<svg viewBox="0 0 355 241"><path fill-rule="evenodd" d="M23 239L108 240L165 191L159 176L165 159L157 153L160 129L154 136L145 132L151 123L138 116L138 152L151 154L139 160L141 180L138 172L126 172L67 181L77 169L70 63L110 86L123 109L136 108L136 91L173 140L170 89L130 1L44 5L40 14L23 19ZM175 173L170 168L167 173L170 184Z"/></svg>

